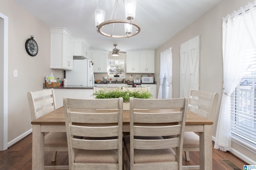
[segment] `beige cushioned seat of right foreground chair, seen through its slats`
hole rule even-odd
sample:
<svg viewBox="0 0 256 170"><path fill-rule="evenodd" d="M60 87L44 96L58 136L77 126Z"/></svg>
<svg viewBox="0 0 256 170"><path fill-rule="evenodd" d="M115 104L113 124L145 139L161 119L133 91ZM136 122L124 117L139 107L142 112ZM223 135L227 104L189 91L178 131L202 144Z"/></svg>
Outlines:
<svg viewBox="0 0 256 170"><path fill-rule="evenodd" d="M162 138L162 137L158 137L158 139L159 138ZM142 139L142 138L137 137L137 139ZM124 145L126 146L127 154L130 157L130 135L127 135L124 137ZM172 162L172 161L176 161L175 152L172 149L155 149L155 150L134 149L134 163Z"/></svg>

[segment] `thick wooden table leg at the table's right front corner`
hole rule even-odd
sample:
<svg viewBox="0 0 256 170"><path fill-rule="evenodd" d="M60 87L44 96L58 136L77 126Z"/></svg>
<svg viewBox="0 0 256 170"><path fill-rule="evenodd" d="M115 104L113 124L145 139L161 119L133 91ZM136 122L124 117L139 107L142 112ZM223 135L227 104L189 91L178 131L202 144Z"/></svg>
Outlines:
<svg viewBox="0 0 256 170"><path fill-rule="evenodd" d="M212 170L212 125L200 132L200 170Z"/></svg>

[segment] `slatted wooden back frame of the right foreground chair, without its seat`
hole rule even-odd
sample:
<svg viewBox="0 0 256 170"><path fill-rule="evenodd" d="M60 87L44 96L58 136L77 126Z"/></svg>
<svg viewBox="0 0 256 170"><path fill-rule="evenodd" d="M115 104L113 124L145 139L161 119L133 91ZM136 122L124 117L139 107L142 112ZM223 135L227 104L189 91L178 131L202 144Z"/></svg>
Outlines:
<svg viewBox="0 0 256 170"><path fill-rule="evenodd" d="M176 99L137 99L130 98L130 162L134 169L134 149L176 149L176 161L159 164L159 169L182 169L182 146L186 123L188 100ZM143 109L149 109L145 111ZM146 123L147 125L144 125ZM152 124L152 126L150 126ZM140 139L134 139L139 136ZM166 139L147 137L172 136ZM146 137L146 139L141 139ZM138 168L138 165L136 165ZM142 164L143 169L152 169ZM161 167L161 168L160 168ZM168 167L168 168L167 168ZM138 168L140 169L140 167Z"/></svg>

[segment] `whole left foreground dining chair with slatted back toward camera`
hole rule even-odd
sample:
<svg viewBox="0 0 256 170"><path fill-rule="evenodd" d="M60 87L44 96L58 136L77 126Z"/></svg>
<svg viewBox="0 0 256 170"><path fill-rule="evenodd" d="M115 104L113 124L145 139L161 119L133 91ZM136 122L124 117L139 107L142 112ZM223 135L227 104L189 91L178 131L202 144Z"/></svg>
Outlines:
<svg viewBox="0 0 256 170"><path fill-rule="evenodd" d="M63 104L69 169L122 170L123 98L64 98Z"/></svg>

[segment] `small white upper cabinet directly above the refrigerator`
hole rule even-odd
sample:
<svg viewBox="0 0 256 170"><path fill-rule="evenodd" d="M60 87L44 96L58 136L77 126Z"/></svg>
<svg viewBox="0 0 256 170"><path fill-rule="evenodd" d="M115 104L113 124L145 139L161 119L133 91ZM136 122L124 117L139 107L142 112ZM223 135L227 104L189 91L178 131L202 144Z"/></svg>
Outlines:
<svg viewBox="0 0 256 170"><path fill-rule="evenodd" d="M84 38L75 38L74 39L74 49L73 55L74 56L84 56L87 59L89 58L89 45L85 41Z"/></svg>

